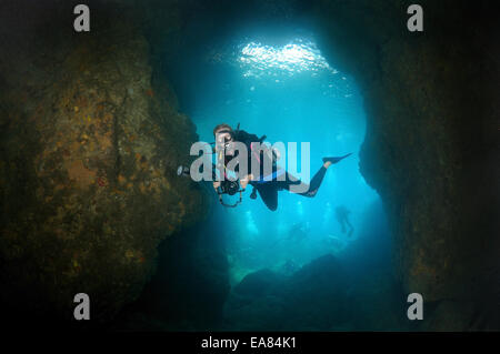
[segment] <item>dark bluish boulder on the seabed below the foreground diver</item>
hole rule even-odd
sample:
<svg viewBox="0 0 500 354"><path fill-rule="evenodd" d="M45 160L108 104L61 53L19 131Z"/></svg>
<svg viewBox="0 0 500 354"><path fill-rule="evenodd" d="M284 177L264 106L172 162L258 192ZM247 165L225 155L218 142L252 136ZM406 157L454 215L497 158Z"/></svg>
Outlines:
<svg viewBox="0 0 500 354"><path fill-rule="evenodd" d="M227 326L328 331L349 320L348 286L347 275L332 255L312 261L290 277L261 270L234 287L226 306Z"/></svg>

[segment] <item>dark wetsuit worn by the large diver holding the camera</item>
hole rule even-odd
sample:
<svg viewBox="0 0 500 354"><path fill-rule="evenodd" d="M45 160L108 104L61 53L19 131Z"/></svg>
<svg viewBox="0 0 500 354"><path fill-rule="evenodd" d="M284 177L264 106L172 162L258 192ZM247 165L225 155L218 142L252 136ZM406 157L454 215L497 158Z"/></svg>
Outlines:
<svg viewBox="0 0 500 354"><path fill-rule="evenodd" d="M243 130L238 130L234 132L233 135L234 141L242 142L247 145L248 150L248 166L251 166L251 143L252 142L259 142L260 139L254 134L249 134ZM262 155L262 154L261 154ZM263 161L263 159L260 159L260 161ZM262 169L263 162L261 163ZM277 172L277 166L273 166L272 170L274 173ZM297 193L299 195L309 196L312 198L318 193L318 189L321 185L321 182L323 181L324 174L327 173L327 169L324 166L321 166L319 171L314 174L314 176L311 179L311 183L309 186L301 182L299 179L293 176L292 174L284 172L286 178L284 181L278 181L276 179L272 179L271 181L251 181L250 184L257 189L259 192L260 198L266 203L266 205L274 211L278 208L278 191L281 190L288 190L290 191L291 185L298 185L302 184L301 188L306 190L307 192L303 193Z"/></svg>

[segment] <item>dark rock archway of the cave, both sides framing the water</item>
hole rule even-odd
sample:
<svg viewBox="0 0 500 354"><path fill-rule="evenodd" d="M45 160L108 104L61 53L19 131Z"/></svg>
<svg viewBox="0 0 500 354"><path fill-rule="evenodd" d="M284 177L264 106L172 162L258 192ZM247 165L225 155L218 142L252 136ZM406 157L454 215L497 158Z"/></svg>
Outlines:
<svg viewBox="0 0 500 354"><path fill-rule="evenodd" d="M159 243L207 209L174 175L197 135L164 73L189 13L208 4L89 1L92 31L74 33L70 3L28 2L0 11L0 300L66 318L87 292L106 321L140 294ZM408 32L406 1L262 3L248 6L312 17L319 47L361 87L361 172L387 208L398 277L436 307L423 328L448 328L450 312L453 328L491 327L500 53L489 2L422 0L423 33Z"/></svg>

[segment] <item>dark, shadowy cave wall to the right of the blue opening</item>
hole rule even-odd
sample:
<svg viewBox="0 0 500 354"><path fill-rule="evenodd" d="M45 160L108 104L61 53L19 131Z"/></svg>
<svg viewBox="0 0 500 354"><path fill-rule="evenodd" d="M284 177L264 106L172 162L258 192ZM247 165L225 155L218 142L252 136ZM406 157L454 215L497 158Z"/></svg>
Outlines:
<svg viewBox="0 0 500 354"><path fill-rule="evenodd" d="M490 284L499 277L491 2L419 1L423 33L406 29L410 3L319 1L321 48L361 85L360 170L387 208L398 276L438 307L422 327L498 327L486 318L498 311Z"/></svg>

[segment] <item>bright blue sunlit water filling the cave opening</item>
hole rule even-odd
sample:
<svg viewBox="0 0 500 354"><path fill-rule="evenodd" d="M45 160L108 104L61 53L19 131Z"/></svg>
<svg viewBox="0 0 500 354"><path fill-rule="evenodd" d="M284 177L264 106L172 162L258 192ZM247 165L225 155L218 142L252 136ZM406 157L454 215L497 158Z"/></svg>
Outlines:
<svg viewBox="0 0 500 354"><path fill-rule="evenodd" d="M357 254L352 247L362 244L358 226L379 196L359 172L366 113L356 81L336 68L334 55L327 62L314 37L303 31L279 38L240 33L212 44L202 58L191 58L193 64L186 59L192 68L184 73L190 95L181 109L201 141L212 142L213 127L224 122L266 134L271 143L310 142L311 176L322 156L352 152L328 170L316 198L282 191L272 212L248 191L238 208L218 206L213 218L228 239L232 283L262 267L289 272L326 253ZM351 212L351 236L336 220L339 205ZM300 232L290 236L293 227Z"/></svg>

